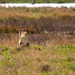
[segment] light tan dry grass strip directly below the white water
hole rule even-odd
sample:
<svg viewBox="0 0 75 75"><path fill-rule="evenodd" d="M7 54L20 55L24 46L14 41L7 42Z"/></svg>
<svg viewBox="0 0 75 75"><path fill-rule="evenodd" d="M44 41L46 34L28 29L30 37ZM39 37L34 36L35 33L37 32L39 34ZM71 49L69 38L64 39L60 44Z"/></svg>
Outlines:
<svg viewBox="0 0 75 75"><path fill-rule="evenodd" d="M74 8L66 8L66 7L61 7L61 8L3 8L0 7L0 16L1 18L7 18L7 17L36 17L36 16L63 16L63 15L69 15L69 16L75 16L75 11L73 11ZM32 14L32 15L31 15Z"/></svg>

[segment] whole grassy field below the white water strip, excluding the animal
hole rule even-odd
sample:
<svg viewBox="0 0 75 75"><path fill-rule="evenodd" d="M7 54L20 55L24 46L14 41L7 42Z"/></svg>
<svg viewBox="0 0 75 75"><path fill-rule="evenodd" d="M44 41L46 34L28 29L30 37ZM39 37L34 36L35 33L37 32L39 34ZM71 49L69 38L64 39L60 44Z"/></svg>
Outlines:
<svg viewBox="0 0 75 75"><path fill-rule="evenodd" d="M0 75L75 75L75 8L0 7Z"/></svg>

